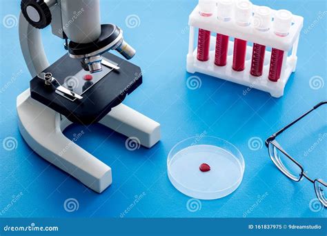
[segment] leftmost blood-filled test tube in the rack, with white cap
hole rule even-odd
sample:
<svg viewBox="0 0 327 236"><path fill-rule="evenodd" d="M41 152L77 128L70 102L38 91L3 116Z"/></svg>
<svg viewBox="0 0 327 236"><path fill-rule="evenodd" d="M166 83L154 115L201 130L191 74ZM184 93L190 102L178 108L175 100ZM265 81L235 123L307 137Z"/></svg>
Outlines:
<svg viewBox="0 0 327 236"><path fill-rule="evenodd" d="M216 7L215 1L199 0L199 14L201 17L211 17L212 12ZM197 39L197 59L199 61L208 61L210 49L210 35L209 30L199 28L199 36Z"/></svg>

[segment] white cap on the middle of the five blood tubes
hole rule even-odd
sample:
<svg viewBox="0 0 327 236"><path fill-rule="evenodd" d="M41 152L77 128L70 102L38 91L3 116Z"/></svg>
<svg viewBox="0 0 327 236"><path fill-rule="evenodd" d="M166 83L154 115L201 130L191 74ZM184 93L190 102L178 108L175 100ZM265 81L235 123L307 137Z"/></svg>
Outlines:
<svg viewBox="0 0 327 236"><path fill-rule="evenodd" d="M248 0L241 0L235 6L235 19L240 26L248 26L252 17L252 3Z"/></svg>

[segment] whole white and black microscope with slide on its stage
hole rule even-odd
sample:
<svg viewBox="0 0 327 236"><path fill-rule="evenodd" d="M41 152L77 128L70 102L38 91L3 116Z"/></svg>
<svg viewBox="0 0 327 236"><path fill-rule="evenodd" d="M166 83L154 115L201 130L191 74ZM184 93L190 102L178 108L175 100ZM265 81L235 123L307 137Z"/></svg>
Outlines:
<svg viewBox="0 0 327 236"><path fill-rule="evenodd" d="M41 30L64 40L68 53L52 65ZM123 30L100 23L99 0L22 0L19 40L32 76L17 97L19 131L35 153L101 193L112 183L110 166L63 135L72 123L99 122L146 148L160 139L160 124L121 102L142 83L135 50ZM116 50L125 59L111 54Z"/></svg>

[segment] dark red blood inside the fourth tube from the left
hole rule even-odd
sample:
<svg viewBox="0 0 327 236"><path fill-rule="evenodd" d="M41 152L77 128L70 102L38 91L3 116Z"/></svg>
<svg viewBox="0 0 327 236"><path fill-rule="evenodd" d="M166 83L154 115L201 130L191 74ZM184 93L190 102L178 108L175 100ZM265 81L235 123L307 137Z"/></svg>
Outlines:
<svg viewBox="0 0 327 236"><path fill-rule="evenodd" d="M252 61L250 74L256 77L262 75L262 70L264 70L264 55L266 52L266 46L253 43L252 50Z"/></svg>

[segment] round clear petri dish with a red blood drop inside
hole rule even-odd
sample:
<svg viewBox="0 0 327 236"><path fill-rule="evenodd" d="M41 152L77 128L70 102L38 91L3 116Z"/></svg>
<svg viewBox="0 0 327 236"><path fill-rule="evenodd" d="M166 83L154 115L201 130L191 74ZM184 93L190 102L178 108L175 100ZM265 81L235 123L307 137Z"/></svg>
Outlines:
<svg viewBox="0 0 327 236"><path fill-rule="evenodd" d="M218 199L234 192L241 184L244 168L244 158L235 146L210 136L180 141L167 159L172 185L197 199Z"/></svg>

